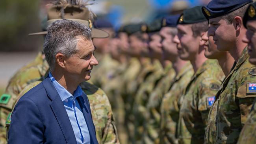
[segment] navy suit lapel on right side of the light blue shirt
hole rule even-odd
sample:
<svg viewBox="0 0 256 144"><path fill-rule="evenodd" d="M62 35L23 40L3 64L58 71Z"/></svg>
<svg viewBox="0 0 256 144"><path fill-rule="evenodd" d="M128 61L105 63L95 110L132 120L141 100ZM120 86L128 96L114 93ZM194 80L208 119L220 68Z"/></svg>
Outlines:
<svg viewBox="0 0 256 144"><path fill-rule="evenodd" d="M88 130L89 130L91 144L98 144L98 141L96 138L95 126L93 124L93 118L91 116L89 101L87 99L87 96L84 93L82 94L82 96L78 97L78 103L82 108L83 116L85 118Z"/></svg>

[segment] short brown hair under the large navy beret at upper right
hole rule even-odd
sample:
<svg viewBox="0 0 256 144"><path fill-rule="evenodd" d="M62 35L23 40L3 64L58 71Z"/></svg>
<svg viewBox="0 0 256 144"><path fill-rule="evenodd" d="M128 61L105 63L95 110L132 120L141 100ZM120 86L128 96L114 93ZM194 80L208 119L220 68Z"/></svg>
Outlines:
<svg viewBox="0 0 256 144"><path fill-rule="evenodd" d="M231 13L228 13L226 15L221 16L221 18L226 20L226 22L228 24L232 24L233 23L233 19L236 16L239 16L239 17L241 17L243 19L243 16L245 15L245 12L246 12L248 7L249 7L249 4L246 4L245 6L239 8L239 9L236 9L235 11L233 11Z"/></svg>

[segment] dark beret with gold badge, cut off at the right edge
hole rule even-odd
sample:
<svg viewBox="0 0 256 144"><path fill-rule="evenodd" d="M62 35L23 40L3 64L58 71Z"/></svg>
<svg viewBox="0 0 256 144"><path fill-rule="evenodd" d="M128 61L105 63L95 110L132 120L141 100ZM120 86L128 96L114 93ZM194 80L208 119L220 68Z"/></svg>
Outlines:
<svg viewBox="0 0 256 144"><path fill-rule="evenodd" d="M247 21L256 20L256 2L249 5L245 16L243 17L243 25L246 28Z"/></svg>

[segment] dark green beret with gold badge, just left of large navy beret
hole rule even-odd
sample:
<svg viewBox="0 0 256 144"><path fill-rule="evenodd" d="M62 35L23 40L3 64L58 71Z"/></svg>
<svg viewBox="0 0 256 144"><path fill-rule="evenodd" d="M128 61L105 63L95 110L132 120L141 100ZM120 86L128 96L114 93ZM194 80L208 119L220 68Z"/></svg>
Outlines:
<svg viewBox="0 0 256 144"><path fill-rule="evenodd" d="M177 24L194 24L198 22L204 22L207 19L202 13L202 6L193 7L191 9L186 9L180 15Z"/></svg>

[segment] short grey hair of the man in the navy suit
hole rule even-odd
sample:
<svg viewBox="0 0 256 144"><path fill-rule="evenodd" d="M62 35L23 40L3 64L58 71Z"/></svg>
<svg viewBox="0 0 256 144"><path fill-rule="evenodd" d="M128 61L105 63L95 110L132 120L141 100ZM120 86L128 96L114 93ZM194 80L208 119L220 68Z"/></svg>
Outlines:
<svg viewBox="0 0 256 144"><path fill-rule="evenodd" d="M91 40L90 28L72 20L57 20L48 26L47 30L43 49L50 70L54 70L56 54L70 57L78 51L78 38Z"/></svg>

